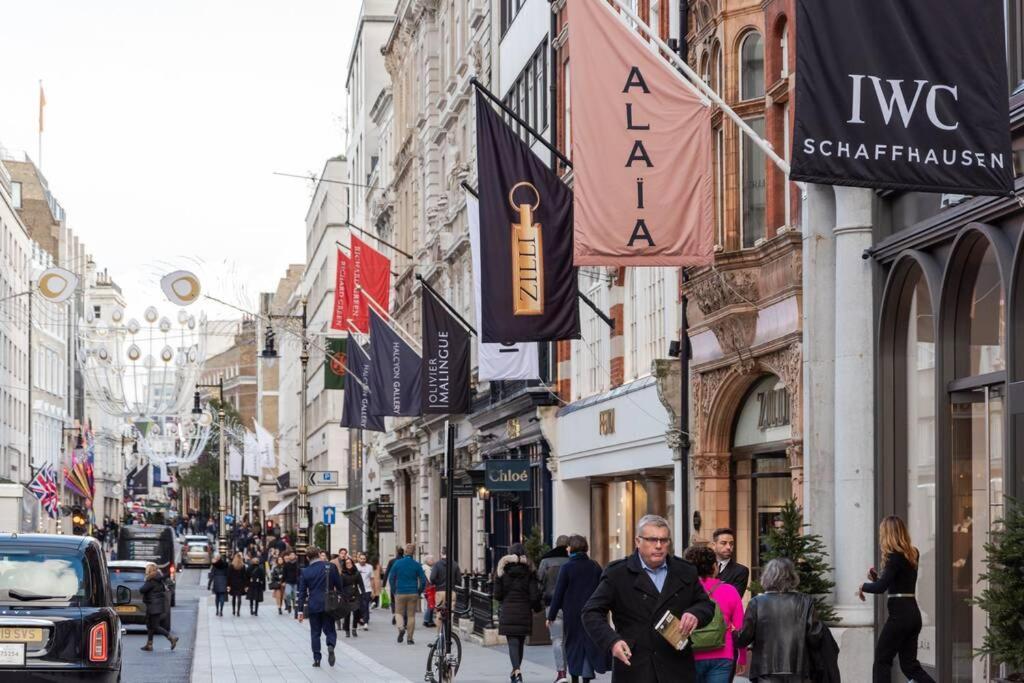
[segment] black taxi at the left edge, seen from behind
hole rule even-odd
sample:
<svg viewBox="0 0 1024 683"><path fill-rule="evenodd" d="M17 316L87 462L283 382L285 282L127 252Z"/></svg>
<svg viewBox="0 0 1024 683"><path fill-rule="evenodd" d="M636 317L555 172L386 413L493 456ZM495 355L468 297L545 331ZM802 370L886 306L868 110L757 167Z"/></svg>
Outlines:
<svg viewBox="0 0 1024 683"><path fill-rule="evenodd" d="M3 679L120 681L117 607L130 599L95 539L0 533Z"/></svg>

